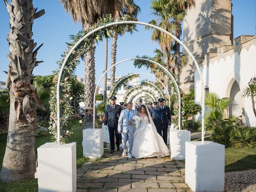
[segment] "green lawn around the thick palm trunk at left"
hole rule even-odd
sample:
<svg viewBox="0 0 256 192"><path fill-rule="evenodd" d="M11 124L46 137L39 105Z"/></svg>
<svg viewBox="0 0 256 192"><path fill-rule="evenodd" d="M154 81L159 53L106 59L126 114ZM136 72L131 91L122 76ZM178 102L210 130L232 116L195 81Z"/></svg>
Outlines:
<svg viewBox="0 0 256 192"><path fill-rule="evenodd" d="M70 122L70 126L73 127L73 134L70 137L70 142L76 142L76 167L82 166L88 157L83 156L82 148L82 126L80 126L78 120ZM4 159L4 152L6 148L7 134L0 135L0 168ZM35 149L40 147L46 142L52 142L51 135L47 132L35 137ZM37 150L36 156L37 156ZM38 191L37 179L31 179L24 182L11 182L4 184L0 182L0 192L36 192Z"/></svg>

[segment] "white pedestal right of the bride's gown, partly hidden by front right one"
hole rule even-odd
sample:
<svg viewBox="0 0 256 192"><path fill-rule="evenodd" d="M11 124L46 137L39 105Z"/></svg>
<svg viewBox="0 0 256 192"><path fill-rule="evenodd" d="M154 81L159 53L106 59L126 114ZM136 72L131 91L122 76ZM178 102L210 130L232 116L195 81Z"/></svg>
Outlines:
<svg viewBox="0 0 256 192"><path fill-rule="evenodd" d="M172 159L185 159L186 141L190 141L190 131L170 130L170 152Z"/></svg>

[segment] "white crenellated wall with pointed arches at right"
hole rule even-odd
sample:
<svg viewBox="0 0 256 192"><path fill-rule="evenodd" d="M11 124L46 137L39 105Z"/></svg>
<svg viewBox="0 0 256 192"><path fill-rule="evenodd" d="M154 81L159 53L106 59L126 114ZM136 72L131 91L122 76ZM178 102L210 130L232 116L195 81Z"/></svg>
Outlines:
<svg viewBox="0 0 256 192"><path fill-rule="evenodd" d="M252 110L250 98L242 97L242 90L250 79L256 75L256 36L239 36L234 39L234 45L224 45L217 52L209 52L201 60L200 70L205 87L210 92L216 92L220 98L230 97L232 86L237 82L240 88L241 106L235 109L236 116L240 113L242 120L250 126L256 126L256 118ZM195 101L202 98L201 81L198 71L194 75ZM256 98L255 98L256 99ZM198 120L200 116L197 116Z"/></svg>

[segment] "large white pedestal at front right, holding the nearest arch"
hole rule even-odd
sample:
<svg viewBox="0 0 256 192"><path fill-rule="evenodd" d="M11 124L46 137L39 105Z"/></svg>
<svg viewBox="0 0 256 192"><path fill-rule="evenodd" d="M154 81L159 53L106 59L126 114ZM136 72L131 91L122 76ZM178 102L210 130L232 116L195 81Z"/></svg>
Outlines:
<svg viewBox="0 0 256 192"><path fill-rule="evenodd" d="M224 191L225 146L205 141L186 142L185 180L194 191Z"/></svg>

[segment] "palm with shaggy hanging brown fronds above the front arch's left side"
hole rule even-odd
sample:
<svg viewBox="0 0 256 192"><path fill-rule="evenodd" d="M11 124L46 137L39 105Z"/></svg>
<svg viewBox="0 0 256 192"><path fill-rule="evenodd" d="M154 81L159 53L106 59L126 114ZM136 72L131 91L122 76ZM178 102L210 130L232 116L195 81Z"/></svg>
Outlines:
<svg viewBox="0 0 256 192"><path fill-rule="evenodd" d="M81 22L84 30L94 26L98 19L105 18L107 14L114 15L116 2L113 0L60 0L64 9L70 12L75 22ZM91 41L90 52L84 56L85 60L85 86L84 106L92 108L95 90L95 54L94 40Z"/></svg>

